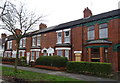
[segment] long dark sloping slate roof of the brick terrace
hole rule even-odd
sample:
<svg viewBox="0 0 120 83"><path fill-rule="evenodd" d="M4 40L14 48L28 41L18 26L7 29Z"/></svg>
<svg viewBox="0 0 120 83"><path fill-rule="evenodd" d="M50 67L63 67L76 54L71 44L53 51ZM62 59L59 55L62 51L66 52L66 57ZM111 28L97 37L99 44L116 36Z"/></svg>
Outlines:
<svg viewBox="0 0 120 83"><path fill-rule="evenodd" d="M75 25L85 24L88 22L98 21L101 19L106 19L106 18L115 17L115 16L120 16L120 9L101 13L98 15L93 15L93 16L90 16L87 18L82 18L82 19L62 23L62 24L59 24L57 26L53 26L53 27L46 28L44 30L37 31L37 32L33 33L33 35L51 32L51 31L57 31L57 30L61 30L61 29L67 29L67 28L70 28L70 27L75 26Z"/></svg>

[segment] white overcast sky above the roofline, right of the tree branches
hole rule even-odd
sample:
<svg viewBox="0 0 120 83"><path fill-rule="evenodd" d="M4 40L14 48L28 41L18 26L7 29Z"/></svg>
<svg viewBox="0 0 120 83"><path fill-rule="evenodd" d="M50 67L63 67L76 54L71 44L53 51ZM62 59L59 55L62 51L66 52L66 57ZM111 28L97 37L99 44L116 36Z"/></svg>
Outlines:
<svg viewBox="0 0 120 83"><path fill-rule="evenodd" d="M4 0L3 0L4 1ZM44 15L48 27L83 18L83 10L91 9L93 15L118 9L120 0L12 0L26 5L30 11ZM37 27L38 28L38 27ZM3 31L0 30L0 34Z"/></svg>

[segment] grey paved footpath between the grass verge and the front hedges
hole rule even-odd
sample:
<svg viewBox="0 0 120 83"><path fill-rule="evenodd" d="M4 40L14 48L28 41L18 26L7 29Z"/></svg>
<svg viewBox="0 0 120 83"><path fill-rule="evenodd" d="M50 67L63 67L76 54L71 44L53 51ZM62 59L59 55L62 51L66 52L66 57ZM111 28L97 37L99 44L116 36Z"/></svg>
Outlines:
<svg viewBox="0 0 120 83"><path fill-rule="evenodd" d="M6 64L0 64L0 65L6 66L6 67L12 67L12 68L14 67L13 65L6 65ZM73 73L67 73L64 71L52 71L52 70L38 69L33 67L22 67L22 66L18 66L18 69L28 70L28 71L38 72L38 73L46 73L51 75L66 76L66 77L75 78L78 80L97 81L97 83L120 83L120 81L116 81L108 78L100 78L100 77L87 76L82 74L73 74Z"/></svg>

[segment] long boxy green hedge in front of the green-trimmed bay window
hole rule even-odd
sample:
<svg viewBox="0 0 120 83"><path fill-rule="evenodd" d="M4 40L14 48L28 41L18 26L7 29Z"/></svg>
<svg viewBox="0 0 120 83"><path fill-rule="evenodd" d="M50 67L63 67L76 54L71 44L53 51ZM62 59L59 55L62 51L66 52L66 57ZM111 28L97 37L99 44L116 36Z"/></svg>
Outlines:
<svg viewBox="0 0 120 83"><path fill-rule="evenodd" d="M67 62L67 71L73 73L89 73L95 75L109 75L112 73L110 63L100 62Z"/></svg>

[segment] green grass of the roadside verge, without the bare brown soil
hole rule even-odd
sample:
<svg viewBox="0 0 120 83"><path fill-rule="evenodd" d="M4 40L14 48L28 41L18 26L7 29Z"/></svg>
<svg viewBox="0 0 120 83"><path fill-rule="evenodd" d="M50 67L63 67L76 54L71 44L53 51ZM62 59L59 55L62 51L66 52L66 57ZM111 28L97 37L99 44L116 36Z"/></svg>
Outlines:
<svg viewBox="0 0 120 83"><path fill-rule="evenodd" d="M0 71L1 69L2 69L3 76L16 77L16 78L28 80L31 82L40 82L40 81L68 82L69 81L69 82L79 82L79 83L93 83L93 82L86 82L86 81L81 81L81 80L63 77L63 76L36 73L36 72L25 71L25 70L18 70L18 73L15 74L13 68L3 67L3 66L0 66Z"/></svg>

